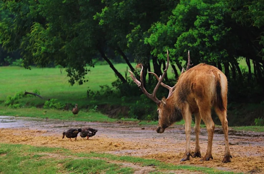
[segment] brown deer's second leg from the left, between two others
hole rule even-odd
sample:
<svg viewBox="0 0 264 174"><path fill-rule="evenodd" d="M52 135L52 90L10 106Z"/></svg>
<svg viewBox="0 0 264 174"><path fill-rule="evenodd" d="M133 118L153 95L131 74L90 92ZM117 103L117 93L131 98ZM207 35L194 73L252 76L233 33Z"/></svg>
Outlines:
<svg viewBox="0 0 264 174"><path fill-rule="evenodd" d="M195 126L194 126L195 149L194 149L194 154L192 155L192 158L195 158L195 157L201 158L200 145L199 145L199 134L200 134L200 123L201 123L202 118L199 112L195 113L194 115L195 115Z"/></svg>

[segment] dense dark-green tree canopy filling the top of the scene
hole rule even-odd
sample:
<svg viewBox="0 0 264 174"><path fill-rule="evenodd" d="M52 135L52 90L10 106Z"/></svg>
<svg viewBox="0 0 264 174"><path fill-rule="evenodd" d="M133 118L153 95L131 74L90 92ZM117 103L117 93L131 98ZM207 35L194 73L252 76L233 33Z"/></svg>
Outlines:
<svg viewBox="0 0 264 174"><path fill-rule="evenodd" d="M194 65L208 63L231 81L254 79L264 86L263 0L21 0L2 1L0 9L2 47L20 51L26 68L67 68L71 84L87 81L84 75L98 56L126 83L111 53L132 71L128 55L143 63L144 78L150 63L159 75L168 49L176 78L176 66L182 68L190 50ZM248 72L239 67L240 57Z"/></svg>

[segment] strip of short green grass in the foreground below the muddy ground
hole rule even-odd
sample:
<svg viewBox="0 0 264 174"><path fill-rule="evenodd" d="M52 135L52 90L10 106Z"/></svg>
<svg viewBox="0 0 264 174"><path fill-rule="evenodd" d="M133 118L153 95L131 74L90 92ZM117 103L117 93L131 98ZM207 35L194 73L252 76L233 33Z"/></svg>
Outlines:
<svg viewBox="0 0 264 174"><path fill-rule="evenodd" d="M213 174L231 174L215 168L174 165L155 159L117 156L107 153L73 153L63 148L36 147L0 143L0 173L133 173L133 168L117 162L129 162L140 166L154 165L155 171L186 170ZM110 162L109 162L110 161Z"/></svg>

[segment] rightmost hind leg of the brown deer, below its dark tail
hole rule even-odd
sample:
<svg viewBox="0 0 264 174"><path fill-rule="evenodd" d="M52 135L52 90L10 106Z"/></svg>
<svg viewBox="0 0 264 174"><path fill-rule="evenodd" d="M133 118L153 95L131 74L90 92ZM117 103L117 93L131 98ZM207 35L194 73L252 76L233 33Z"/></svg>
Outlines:
<svg viewBox="0 0 264 174"><path fill-rule="evenodd" d="M223 159L223 163L231 162L230 158L232 158L230 154L229 144L228 144L228 121L227 121L227 111L221 111L218 108L215 108L215 112L217 113L221 123L225 136L225 155Z"/></svg>

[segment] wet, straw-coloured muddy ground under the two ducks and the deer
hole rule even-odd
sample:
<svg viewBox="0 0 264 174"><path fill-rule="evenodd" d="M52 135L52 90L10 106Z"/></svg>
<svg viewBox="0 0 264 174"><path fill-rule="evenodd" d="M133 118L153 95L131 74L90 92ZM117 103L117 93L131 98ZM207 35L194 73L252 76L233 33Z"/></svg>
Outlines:
<svg viewBox="0 0 264 174"><path fill-rule="evenodd" d="M131 122L90 123L69 122L37 118L0 116L1 143L30 144L35 146L62 147L74 152L107 152L158 159L173 164L214 167L219 170L264 173L264 133L229 131L230 163L222 163L224 136L216 128L213 140L213 160L200 162L200 158L180 162L185 152L184 126L171 126L157 134L155 126L139 126ZM93 127L95 136L77 137L77 141L62 139L62 132L69 128ZM195 134L191 134L191 147L195 147ZM207 132L201 129L200 147L206 153Z"/></svg>

